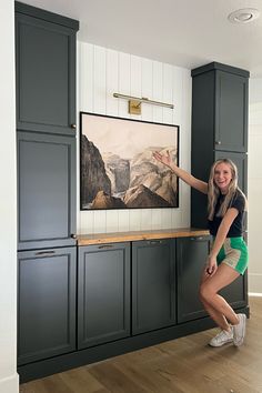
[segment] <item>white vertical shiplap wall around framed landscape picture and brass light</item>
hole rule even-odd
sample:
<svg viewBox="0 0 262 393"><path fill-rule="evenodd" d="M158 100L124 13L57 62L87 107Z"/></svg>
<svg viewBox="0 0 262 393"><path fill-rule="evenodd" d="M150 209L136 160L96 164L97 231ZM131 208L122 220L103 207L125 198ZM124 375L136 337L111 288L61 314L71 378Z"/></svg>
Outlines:
<svg viewBox="0 0 262 393"><path fill-rule="evenodd" d="M170 102L174 104L174 110L142 104L141 115L130 115L128 101L113 98L114 92ZM78 111L180 125L180 165L190 171L190 70L78 42ZM79 137L79 127L78 131ZM78 196L79 187L78 157ZM78 233L81 234L181 228L189 224L190 189L181 182L179 209L80 211L78 205Z"/></svg>

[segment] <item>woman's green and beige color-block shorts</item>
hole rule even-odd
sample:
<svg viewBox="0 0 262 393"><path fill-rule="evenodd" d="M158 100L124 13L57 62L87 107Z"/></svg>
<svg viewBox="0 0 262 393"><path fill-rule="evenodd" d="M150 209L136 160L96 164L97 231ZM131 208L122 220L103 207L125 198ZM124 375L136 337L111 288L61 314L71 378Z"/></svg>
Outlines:
<svg viewBox="0 0 262 393"><path fill-rule="evenodd" d="M240 274L248 268L249 254L245 241L240 238L226 238L216 256L218 264L225 263Z"/></svg>

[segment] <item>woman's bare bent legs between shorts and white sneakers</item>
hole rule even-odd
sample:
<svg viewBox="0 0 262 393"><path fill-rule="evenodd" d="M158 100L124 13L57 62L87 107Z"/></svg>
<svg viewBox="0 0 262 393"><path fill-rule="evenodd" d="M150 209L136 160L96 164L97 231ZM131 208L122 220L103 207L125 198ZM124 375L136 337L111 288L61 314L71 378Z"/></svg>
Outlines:
<svg viewBox="0 0 262 393"><path fill-rule="evenodd" d="M200 299L214 322L223 330L229 330L229 323L238 324L239 318L228 302L218 294L224 286L231 284L240 274L232 268L221 263L212 276L203 278L200 285ZM226 321L228 320L228 321Z"/></svg>

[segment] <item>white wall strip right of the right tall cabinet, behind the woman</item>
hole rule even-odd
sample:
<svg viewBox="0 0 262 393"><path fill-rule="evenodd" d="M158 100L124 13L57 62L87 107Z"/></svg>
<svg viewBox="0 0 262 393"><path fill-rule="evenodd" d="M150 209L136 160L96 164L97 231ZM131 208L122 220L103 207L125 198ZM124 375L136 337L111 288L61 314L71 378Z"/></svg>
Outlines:
<svg viewBox="0 0 262 393"><path fill-rule="evenodd" d="M249 292L262 294L262 79L250 79L249 102Z"/></svg>

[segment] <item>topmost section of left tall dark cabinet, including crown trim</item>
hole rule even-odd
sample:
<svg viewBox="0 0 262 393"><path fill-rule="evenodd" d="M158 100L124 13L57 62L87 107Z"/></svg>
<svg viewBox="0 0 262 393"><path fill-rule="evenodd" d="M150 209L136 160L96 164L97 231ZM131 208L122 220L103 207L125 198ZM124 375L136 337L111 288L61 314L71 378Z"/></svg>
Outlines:
<svg viewBox="0 0 262 393"><path fill-rule="evenodd" d="M78 22L16 2L17 128L75 133Z"/></svg>

